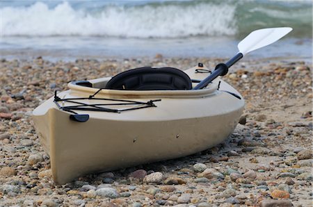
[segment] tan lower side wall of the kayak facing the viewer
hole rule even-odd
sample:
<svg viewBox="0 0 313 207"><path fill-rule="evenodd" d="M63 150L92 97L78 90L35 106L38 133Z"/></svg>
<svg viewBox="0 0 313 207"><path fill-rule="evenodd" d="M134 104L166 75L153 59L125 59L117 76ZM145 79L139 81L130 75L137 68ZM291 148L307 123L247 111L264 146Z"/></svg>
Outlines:
<svg viewBox="0 0 313 207"><path fill-rule="evenodd" d="M104 172L194 154L223 142L243 108L216 117L161 122L125 122L90 118L72 122L54 109L51 168L56 183L92 172ZM66 128L64 126L67 126Z"/></svg>

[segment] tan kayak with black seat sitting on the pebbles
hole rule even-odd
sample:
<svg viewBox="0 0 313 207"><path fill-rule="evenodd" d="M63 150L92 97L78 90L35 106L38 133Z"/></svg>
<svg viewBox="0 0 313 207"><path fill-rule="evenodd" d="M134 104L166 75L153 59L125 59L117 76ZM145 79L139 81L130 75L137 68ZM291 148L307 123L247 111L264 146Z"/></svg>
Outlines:
<svg viewBox="0 0 313 207"><path fill-rule="evenodd" d="M244 100L199 63L179 69L139 68L117 76L72 81L33 110L56 183L195 154L223 142Z"/></svg>

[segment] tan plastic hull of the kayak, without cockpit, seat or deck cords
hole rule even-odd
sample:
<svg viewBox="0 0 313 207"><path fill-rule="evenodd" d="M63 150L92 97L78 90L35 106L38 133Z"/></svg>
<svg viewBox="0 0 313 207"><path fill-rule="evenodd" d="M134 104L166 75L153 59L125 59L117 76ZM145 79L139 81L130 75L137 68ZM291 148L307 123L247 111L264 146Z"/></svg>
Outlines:
<svg viewBox="0 0 313 207"><path fill-rule="evenodd" d="M220 85L236 92L225 82ZM63 94L77 96L73 90ZM244 106L243 99L218 90L198 98L159 98L157 107L90 112L83 123L69 119L70 113L59 110L53 98L36 108L35 130L50 156L54 181L63 184L90 173L203 151L232 133Z"/></svg>

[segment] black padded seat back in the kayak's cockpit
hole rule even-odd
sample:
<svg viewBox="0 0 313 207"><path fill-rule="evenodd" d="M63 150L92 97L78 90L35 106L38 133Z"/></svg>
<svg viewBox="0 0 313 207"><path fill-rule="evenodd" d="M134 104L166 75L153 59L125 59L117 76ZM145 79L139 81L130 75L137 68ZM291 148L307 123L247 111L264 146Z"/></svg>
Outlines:
<svg viewBox="0 0 313 207"><path fill-rule="evenodd" d="M113 76L106 83L113 90L191 90L191 79L174 67L139 67Z"/></svg>

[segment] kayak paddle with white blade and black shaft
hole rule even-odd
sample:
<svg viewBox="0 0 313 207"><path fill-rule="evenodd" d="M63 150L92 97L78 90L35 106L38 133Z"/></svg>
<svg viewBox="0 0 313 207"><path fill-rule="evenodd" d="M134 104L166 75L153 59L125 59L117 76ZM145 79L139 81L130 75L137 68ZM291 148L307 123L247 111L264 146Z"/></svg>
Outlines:
<svg viewBox="0 0 313 207"><path fill-rule="evenodd" d="M239 42L239 52L236 56L228 60L227 63L220 63L216 65L214 72L207 76L207 78L204 78L204 80L202 80L198 85L195 85L193 90L206 87L217 76L225 76L228 72L228 68L234 65L234 63L237 63L247 53L276 42L280 38L284 37L284 35L287 35L290 31L292 31L292 28L290 27L262 28L252 31L252 33Z"/></svg>

